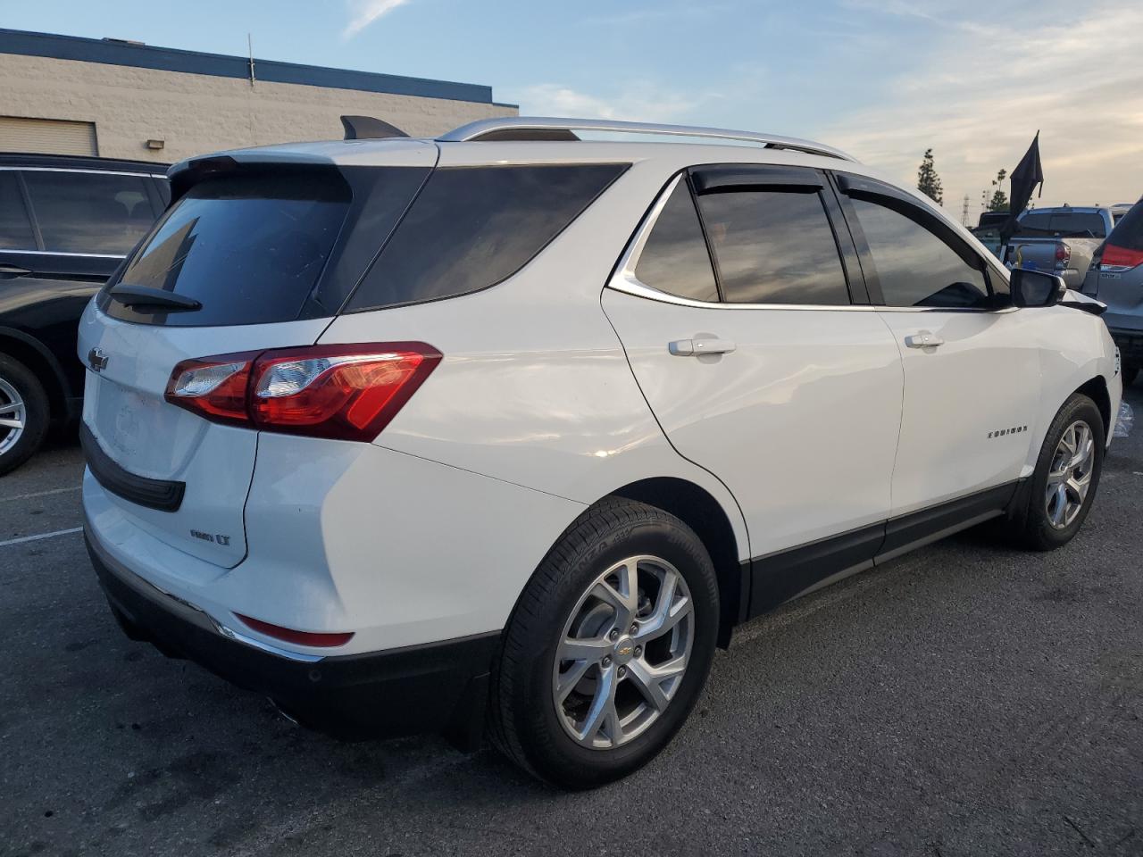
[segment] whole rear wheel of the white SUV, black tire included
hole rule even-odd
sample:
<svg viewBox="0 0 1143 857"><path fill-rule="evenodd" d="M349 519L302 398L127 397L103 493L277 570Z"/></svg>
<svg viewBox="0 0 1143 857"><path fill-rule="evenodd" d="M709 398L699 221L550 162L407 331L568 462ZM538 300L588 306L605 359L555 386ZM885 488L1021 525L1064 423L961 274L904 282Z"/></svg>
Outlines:
<svg viewBox="0 0 1143 857"><path fill-rule="evenodd" d="M612 592L598 596L606 590L596 584L613 570L606 578ZM669 580L673 586L664 585ZM624 591L638 598L626 602ZM632 606L634 624L628 626L629 614L621 611ZM670 618L658 622L668 612ZM493 743L525 770L565 788L591 788L631 774L668 745L694 707L718 624L714 567L694 531L642 503L598 503L549 551L512 612L493 671ZM558 660L572 651L561 646L566 636L589 641L589 656ZM680 654L681 675L672 672ZM670 675L656 679L650 668ZM558 702L558 690L569 687L575 689ZM616 716L593 719L610 687ZM576 729L580 738L573 737Z"/></svg>

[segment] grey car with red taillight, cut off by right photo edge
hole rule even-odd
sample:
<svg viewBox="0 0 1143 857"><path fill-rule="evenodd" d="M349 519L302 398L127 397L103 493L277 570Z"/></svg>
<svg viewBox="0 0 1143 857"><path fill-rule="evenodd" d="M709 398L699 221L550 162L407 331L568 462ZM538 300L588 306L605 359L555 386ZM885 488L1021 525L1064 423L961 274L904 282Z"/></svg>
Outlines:
<svg viewBox="0 0 1143 857"><path fill-rule="evenodd" d="M1108 305L1103 320L1119 346L1124 384L1134 383L1143 368L1143 199L1096 250L1084 293Z"/></svg>

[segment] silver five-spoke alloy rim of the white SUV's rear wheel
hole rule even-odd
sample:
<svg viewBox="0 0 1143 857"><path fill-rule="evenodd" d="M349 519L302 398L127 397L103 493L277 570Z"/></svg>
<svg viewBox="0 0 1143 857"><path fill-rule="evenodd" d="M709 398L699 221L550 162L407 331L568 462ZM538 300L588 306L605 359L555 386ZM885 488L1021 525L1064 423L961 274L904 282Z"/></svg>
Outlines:
<svg viewBox="0 0 1143 857"><path fill-rule="evenodd" d="M580 596L557 647L552 702L565 731L594 750L645 732L678 692L694 635L674 566L648 555L612 566Z"/></svg>

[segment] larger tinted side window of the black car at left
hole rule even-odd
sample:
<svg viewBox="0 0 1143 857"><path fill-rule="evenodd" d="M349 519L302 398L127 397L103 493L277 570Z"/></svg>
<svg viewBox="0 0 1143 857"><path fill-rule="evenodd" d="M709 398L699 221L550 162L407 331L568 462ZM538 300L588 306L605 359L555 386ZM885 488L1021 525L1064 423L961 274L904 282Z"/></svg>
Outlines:
<svg viewBox="0 0 1143 857"><path fill-rule="evenodd" d="M46 250L122 255L154 223L142 176L27 170Z"/></svg>

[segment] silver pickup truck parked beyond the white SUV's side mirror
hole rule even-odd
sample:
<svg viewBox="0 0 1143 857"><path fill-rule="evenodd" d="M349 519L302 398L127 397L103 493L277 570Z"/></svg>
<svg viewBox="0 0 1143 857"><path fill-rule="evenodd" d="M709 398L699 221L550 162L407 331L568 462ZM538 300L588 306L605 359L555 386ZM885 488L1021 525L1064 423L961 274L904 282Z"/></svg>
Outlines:
<svg viewBox="0 0 1143 857"><path fill-rule="evenodd" d="M1008 267L1049 271L1062 277L1068 288L1078 289L1096 249L1127 209L1063 206L1024 211L1000 258Z"/></svg>

